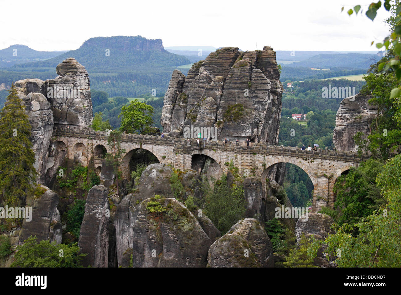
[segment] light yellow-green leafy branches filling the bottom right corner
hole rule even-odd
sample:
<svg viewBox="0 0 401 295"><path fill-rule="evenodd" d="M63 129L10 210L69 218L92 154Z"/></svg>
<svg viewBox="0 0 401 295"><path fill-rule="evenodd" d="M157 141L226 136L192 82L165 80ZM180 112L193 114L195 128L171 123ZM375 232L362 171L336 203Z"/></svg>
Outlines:
<svg viewBox="0 0 401 295"><path fill-rule="evenodd" d="M325 241L315 241L311 257L324 243L330 255L340 253L336 259L339 267L401 267L401 155L387 161L376 183L387 204L356 223L357 232L343 224Z"/></svg>

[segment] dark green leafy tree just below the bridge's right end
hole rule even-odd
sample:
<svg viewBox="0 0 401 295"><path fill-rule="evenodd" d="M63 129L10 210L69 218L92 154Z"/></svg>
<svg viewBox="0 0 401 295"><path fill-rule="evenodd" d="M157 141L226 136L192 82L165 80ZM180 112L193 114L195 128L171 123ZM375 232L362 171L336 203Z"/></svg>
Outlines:
<svg viewBox="0 0 401 295"><path fill-rule="evenodd" d="M381 161L369 159L357 169L351 169L347 175L337 178L334 184L334 208L338 208L340 214L334 220L340 226L344 223L353 226L385 203L375 184L375 179L382 170Z"/></svg>

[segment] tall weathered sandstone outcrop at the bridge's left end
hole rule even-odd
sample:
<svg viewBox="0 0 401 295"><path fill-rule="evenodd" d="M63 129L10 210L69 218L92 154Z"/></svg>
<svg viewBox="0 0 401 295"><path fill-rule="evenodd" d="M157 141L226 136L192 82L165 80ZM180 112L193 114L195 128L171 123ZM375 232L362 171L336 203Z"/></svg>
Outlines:
<svg viewBox="0 0 401 295"><path fill-rule="evenodd" d="M92 102L88 73L74 58L57 65L58 77L42 81L23 79L15 82L32 126L31 141L38 182L51 185L67 149L51 141L53 127L85 129L92 124Z"/></svg>

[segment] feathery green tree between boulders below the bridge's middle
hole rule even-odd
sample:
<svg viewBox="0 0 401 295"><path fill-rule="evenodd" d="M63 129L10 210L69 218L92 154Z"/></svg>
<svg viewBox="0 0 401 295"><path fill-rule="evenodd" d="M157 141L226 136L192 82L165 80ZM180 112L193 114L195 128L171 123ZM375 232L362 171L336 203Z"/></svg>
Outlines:
<svg viewBox="0 0 401 295"><path fill-rule="evenodd" d="M245 218L245 197L242 187L227 183L227 175L215 181L214 189L204 181L204 212L222 234Z"/></svg>

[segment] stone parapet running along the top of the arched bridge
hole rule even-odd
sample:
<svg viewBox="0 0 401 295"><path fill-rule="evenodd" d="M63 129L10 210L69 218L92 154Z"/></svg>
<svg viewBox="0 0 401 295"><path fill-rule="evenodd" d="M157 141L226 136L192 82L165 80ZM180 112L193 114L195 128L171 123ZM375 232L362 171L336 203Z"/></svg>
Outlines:
<svg viewBox="0 0 401 295"><path fill-rule="evenodd" d="M66 128L57 128L53 131L56 136L71 136L71 137L81 137L81 138L91 138L107 140L107 134L104 131L93 131L93 130L67 130ZM243 146L236 144L235 142L224 142L200 140L199 146L196 140L190 140L190 145L188 145L188 140L185 138L176 137L164 137L153 136L153 135L142 135L142 134L123 134L122 140L124 142L135 142L135 143L148 143L148 144L158 144L158 145L169 145L174 147L174 152L190 153L196 149L213 149L219 151L232 151L235 153L260 153L267 155L281 155L281 156L291 156L291 157L305 157L305 158L320 158L320 159L330 159L337 161L352 161L361 162L370 159L370 155L361 155L358 153L350 151L336 151L329 149L318 149L317 151L307 151L301 150L298 146L277 146L261 144L261 143L251 143L251 146Z"/></svg>

